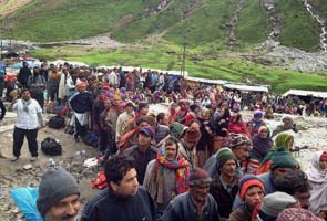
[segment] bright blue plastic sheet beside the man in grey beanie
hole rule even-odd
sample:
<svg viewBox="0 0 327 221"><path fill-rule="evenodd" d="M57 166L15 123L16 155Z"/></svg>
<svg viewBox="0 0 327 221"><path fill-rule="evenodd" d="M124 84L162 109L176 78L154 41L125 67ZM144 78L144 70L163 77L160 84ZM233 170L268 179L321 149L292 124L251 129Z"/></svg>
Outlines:
<svg viewBox="0 0 327 221"><path fill-rule="evenodd" d="M9 190L17 207L22 211L25 221L44 221L37 208L38 188L21 187Z"/></svg>

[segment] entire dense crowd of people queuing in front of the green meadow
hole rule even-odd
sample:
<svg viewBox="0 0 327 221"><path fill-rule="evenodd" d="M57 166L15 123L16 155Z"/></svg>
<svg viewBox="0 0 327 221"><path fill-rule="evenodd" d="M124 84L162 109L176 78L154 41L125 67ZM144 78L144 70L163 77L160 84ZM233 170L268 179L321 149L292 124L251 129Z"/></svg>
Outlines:
<svg viewBox="0 0 327 221"><path fill-rule="evenodd" d="M292 115L272 131L265 122L275 112L325 116L325 99L305 104L296 96L191 86L151 70L69 63L32 72L24 64L17 81L22 90L12 99L12 161L24 136L37 160L49 99L47 105L67 107L75 143L96 135L104 167L108 188L82 210L74 178L50 168L37 201L45 220L326 220L327 151L316 152L303 171L290 154L294 137L287 131L297 131ZM151 103L167 104L167 112L149 112ZM253 110L249 122L244 108Z"/></svg>

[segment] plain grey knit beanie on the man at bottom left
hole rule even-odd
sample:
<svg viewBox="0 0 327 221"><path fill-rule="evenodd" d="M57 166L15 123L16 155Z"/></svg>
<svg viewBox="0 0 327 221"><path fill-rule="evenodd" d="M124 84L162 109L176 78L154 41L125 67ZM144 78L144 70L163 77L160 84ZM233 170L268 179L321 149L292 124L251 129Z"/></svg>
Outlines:
<svg viewBox="0 0 327 221"><path fill-rule="evenodd" d="M50 168L41 178L37 200L38 210L45 215L54 203L72 194L80 194L75 178L61 167Z"/></svg>

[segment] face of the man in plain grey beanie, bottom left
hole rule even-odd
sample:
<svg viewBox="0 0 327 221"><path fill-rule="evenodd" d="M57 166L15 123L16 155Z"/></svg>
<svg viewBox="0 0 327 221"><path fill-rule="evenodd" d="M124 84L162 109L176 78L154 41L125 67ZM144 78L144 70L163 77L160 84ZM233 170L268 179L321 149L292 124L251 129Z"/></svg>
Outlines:
<svg viewBox="0 0 327 221"><path fill-rule="evenodd" d="M81 209L80 196L72 194L52 206L45 213L47 221L73 221Z"/></svg>

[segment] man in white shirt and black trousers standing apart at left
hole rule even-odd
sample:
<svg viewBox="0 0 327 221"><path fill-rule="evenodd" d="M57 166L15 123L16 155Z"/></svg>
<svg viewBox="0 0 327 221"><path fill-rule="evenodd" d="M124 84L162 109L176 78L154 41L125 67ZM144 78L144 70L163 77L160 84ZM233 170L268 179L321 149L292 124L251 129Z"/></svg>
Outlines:
<svg viewBox="0 0 327 221"><path fill-rule="evenodd" d="M31 98L29 90L22 90L21 97L12 107L17 112L17 123L13 129L13 157L11 161L19 159L24 137L28 139L29 150L32 155L31 161L34 161L38 158L38 128L43 126L42 108L35 99Z"/></svg>

